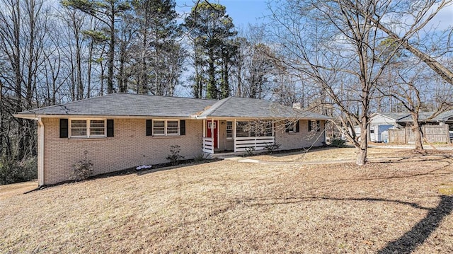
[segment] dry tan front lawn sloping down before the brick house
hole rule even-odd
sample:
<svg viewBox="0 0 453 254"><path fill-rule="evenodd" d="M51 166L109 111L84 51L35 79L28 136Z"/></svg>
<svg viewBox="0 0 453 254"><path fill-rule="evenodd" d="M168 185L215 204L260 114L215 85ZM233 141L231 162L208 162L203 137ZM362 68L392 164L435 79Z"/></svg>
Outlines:
<svg viewBox="0 0 453 254"><path fill-rule="evenodd" d="M0 253L452 253L452 190L449 158L218 161L0 200Z"/></svg>

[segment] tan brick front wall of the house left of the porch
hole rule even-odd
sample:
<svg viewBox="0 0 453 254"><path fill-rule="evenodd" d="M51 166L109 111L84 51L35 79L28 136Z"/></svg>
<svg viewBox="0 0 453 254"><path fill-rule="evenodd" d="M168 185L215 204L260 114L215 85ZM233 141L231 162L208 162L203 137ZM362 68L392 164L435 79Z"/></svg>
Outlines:
<svg viewBox="0 0 453 254"><path fill-rule="evenodd" d="M146 136L145 119L115 119L115 137L101 139L59 138L59 119L42 118L45 129L44 184L69 180L71 166L84 151L93 162L93 174L120 171L141 165L166 163L171 145L179 145L180 155L194 158L202 153L202 121L185 120L185 135Z"/></svg>

